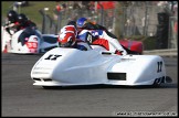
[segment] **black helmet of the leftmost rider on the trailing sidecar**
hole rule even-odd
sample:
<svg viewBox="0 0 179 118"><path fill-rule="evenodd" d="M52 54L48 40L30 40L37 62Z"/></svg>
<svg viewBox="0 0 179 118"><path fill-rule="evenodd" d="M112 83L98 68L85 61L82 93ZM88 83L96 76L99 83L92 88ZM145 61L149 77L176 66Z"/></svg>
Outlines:
<svg viewBox="0 0 179 118"><path fill-rule="evenodd" d="M10 21L10 23L14 23L18 19L18 13L13 10L10 10L7 14L7 18Z"/></svg>

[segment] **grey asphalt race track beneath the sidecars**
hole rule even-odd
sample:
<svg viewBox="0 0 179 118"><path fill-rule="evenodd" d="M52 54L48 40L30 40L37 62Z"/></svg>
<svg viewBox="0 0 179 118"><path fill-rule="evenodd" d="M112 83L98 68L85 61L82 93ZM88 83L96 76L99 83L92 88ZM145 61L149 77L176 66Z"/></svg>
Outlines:
<svg viewBox="0 0 179 118"><path fill-rule="evenodd" d="M171 84L150 86L80 86L43 89L30 72L42 55L1 55L1 116L178 116L178 62L164 57Z"/></svg>

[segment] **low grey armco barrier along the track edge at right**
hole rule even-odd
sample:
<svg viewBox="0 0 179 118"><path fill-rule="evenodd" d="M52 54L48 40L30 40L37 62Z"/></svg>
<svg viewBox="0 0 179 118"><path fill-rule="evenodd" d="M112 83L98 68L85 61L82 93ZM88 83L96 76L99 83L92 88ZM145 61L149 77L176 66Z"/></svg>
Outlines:
<svg viewBox="0 0 179 118"><path fill-rule="evenodd" d="M144 51L146 55L178 56L178 49Z"/></svg>

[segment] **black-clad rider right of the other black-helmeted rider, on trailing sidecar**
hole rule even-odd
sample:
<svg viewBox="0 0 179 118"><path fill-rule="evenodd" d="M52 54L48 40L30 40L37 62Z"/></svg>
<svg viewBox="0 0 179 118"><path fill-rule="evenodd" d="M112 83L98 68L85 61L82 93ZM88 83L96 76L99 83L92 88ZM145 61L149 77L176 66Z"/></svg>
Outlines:
<svg viewBox="0 0 179 118"><path fill-rule="evenodd" d="M18 22L19 22L18 30L24 29L27 26L31 26L32 29L36 29L36 24L34 22L32 22L31 20L29 20L27 18L27 15L23 14L23 13L20 13L18 15Z"/></svg>

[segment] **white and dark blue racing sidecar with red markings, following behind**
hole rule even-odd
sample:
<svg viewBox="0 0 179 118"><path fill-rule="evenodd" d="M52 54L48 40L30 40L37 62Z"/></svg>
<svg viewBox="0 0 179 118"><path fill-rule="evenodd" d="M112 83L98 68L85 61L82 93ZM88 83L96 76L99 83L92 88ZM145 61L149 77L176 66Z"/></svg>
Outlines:
<svg viewBox="0 0 179 118"><path fill-rule="evenodd" d="M39 30L25 28L18 32L1 28L1 50L3 53L39 54L59 46L57 35L41 34Z"/></svg>

